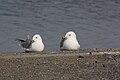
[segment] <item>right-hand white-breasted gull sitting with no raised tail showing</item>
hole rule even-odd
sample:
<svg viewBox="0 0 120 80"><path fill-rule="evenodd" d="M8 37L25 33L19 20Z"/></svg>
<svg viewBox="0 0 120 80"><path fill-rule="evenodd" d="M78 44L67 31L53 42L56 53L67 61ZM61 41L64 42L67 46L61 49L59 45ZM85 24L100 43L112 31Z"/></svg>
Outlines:
<svg viewBox="0 0 120 80"><path fill-rule="evenodd" d="M62 37L60 43L61 50L78 50L80 48L80 44L77 41L76 34L73 31L69 31L66 33L64 37Z"/></svg>

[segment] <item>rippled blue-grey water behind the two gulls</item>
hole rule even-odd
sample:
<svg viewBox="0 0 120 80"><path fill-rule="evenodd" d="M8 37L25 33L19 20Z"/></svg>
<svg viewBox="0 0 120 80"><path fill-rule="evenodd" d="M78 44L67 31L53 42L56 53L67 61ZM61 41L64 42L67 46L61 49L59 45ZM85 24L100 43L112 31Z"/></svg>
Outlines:
<svg viewBox="0 0 120 80"><path fill-rule="evenodd" d="M81 48L120 47L120 0L0 0L0 51L22 51L15 38L40 34L45 50L76 32Z"/></svg>

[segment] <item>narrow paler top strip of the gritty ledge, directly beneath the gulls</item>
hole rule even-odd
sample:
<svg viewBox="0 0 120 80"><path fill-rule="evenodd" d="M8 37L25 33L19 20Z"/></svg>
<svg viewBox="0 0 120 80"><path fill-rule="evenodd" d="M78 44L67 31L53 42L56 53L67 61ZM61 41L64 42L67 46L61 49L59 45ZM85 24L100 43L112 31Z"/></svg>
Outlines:
<svg viewBox="0 0 120 80"><path fill-rule="evenodd" d="M120 54L120 48L93 48L80 49L78 51L43 51L43 52L0 52L0 58L22 58L22 57L69 57L69 56L89 56L89 55L103 55L103 54Z"/></svg>

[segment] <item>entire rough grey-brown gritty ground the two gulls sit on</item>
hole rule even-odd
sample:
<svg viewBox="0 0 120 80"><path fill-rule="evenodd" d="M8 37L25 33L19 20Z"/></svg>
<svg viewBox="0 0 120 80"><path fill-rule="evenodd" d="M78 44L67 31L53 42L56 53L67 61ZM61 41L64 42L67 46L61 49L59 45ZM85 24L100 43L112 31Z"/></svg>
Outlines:
<svg viewBox="0 0 120 80"><path fill-rule="evenodd" d="M0 80L120 80L120 49L0 53Z"/></svg>

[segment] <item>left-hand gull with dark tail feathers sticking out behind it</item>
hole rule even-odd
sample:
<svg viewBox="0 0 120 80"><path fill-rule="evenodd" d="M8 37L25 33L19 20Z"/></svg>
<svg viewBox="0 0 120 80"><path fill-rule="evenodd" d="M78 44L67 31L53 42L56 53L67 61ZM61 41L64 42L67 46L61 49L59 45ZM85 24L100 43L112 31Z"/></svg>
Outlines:
<svg viewBox="0 0 120 80"><path fill-rule="evenodd" d="M42 38L39 34L35 34L32 39L30 36L27 36L27 39L16 39L17 41L20 41L22 46L22 49L25 52L32 52L32 51L43 51L44 50L44 44L42 41Z"/></svg>

